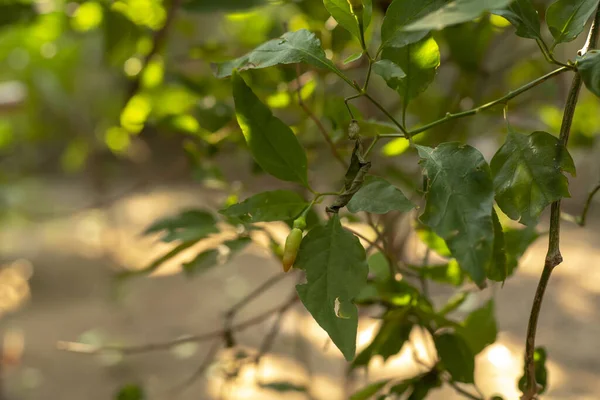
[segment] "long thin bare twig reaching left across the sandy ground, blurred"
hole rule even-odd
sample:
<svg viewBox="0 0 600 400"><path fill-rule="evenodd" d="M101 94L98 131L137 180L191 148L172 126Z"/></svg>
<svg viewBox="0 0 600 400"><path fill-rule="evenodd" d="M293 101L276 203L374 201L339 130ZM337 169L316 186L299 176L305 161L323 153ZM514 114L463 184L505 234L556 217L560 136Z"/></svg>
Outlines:
<svg viewBox="0 0 600 400"><path fill-rule="evenodd" d="M241 332L241 331L246 330L254 325L258 325L261 322L264 322L267 319L269 319L273 314L279 312L281 309L287 308L291 304L293 304L297 301L298 301L298 296L294 295L288 301L286 301L283 305L279 305L275 308L269 309L269 310L255 316L253 318L250 318L242 323L233 325L231 327L231 331L232 332ZM93 345L88 345L85 343L62 342L62 341L58 342L56 346L59 350L69 351L72 353L80 353L80 354L92 354L93 355L93 354L104 353L107 351L116 351L116 352L120 352L124 355L133 355L133 354L141 354L141 353L147 353L147 352L158 351L158 350L169 350L175 346L178 346L178 345L181 345L184 343L203 342L206 340L223 337L226 333L227 333L227 331L225 329L220 329L220 330L216 330L216 331L212 331L212 332L206 332L206 333L201 333L201 334L197 334L197 335L190 335L190 336L185 336L182 338L171 339L171 340L164 341L164 342L155 342L155 343L148 343L148 344L136 345L136 346L115 346L115 345L93 346Z"/></svg>

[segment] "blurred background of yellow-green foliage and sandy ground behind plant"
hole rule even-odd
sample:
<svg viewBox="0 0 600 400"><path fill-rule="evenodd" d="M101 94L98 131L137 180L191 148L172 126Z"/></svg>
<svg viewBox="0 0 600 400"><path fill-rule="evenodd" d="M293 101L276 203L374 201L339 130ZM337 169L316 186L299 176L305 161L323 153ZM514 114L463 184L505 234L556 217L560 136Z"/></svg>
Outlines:
<svg viewBox="0 0 600 400"><path fill-rule="evenodd" d="M388 3L374 0L367 32L374 47ZM548 2L535 3L543 18ZM148 269L173 248L157 235L142 235L156 219L189 208L216 216L226 204L289 186L253 162L235 121L229 80L215 78L211 63L302 28L315 32L328 57L361 81L365 60L344 62L360 52L358 42L337 26L320 0L0 0L0 399L104 400L117 398L124 387L121 394L137 396L139 389L145 398L159 400L347 399L366 382L421 371L415 358L435 357L432 344L414 330L413 348L405 346L385 364L374 360L368 374L347 375L339 351L298 304L280 324L273 314L238 332L235 349L220 348L225 315L245 296L259 289L260 296L236 312L234 323L261 316L293 292L299 273L282 276L272 251L287 234L283 223L251 232L252 242L233 254L218 244L239 232L218 222L218 233L207 241ZM488 15L435 33L441 66L431 87L409 107L409 125L472 108L549 72L535 42L513 31L503 18ZM559 47L557 58L573 58L583 40ZM297 96L348 159L350 117L343 98L352 89L305 65L246 77L298 134L309 154L313 187L336 188L344 168ZM511 101L511 124L523 133L557 135L570 79L562 74ZM401 113L397 93L379 77L370 91ZM359 119L385 121L367 102L353 106ZM385 128L362 125L363 133ZM499 107L441 125L419 142L468 142L489 160L505 133ZM599 134L600 102L584 89L572 131L578 175L570 179L567 212L581 212L600 178ZM401 187L419 187L419 170L406 140L382 142L373 152L373 171ZM390 234L404 238L408 259L423 252L409 217L382 221ZM368 225L346 218L373 237ZM539 231L546 229L542 222ZM549 351L544 398L600 396L598 232L597 202L587 227L563 223L565 262L551 280L538 329L538 343ZM527 318L546 245L542 235L502 288L474 293L457 311L468 313L496 296L498 341L477 358L476 380L486 396L518 398ZM182 273L183 263L211 246L219 249L214 265L202 273ZM142 273L123 274L127 271ZM123 276L128 278L117 279ZM276 284L262 286L270 280ZM431 290L434 301L452 294L441 286ZM279 332L265 349L275 323ZM373 338L377 324L363 316L359 349ZM135 354L81 354L60 344L87 344L86 350L211 332L217 335ZM263 350L268 351L258 366L236 361ZM461 397L440 389L431 398Z"/></svg>

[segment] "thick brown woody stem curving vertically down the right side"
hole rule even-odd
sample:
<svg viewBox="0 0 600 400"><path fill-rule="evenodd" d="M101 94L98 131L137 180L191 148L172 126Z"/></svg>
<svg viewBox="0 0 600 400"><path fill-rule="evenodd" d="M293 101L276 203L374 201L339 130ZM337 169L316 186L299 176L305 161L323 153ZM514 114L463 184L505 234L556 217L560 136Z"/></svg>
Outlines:
<svg viewBox="0 0 600 400"><path fill-rule="evenodd" d="M585 54L588 50L596 47L598 42L598 29L600 28L600 8L596 10L596 16L590 33L588 35L587 42L583 49L579 51L579 54ZM567 97L567 103L565 105L565 111L563 114L562 125L560 128L559 140L563 146L559 149L566 148L569 142L569 135L571 133L571 125L573 123L573 117L575 115L575 108L577 107L577 100L579 99L579 92L581 91L582 80L579 74L576 74L571 83L571 89ZM538 318L540 316L540 310L542 308L542 301L544 299L544 293L546 287L552 275L552 271L562 261L562 255L560 252L560 200L552 203L550 211L550 235L548 241L548 253L546 254L546 260L544 262L544 269L538 283L538 287L533 298L533 305L531 307L531 314L529 316L529 324L527 327L527 340L525 345L525 378L526 385L523 391L521 400L532 400L538 393L538 385L535 380L535 336L537 330Z"/></svg>

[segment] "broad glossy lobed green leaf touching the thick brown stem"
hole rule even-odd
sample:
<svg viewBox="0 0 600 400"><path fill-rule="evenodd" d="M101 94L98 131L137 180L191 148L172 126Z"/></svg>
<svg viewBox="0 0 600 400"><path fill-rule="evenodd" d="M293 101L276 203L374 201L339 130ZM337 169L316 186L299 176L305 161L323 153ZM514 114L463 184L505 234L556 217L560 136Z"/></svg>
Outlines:
<svg viewBox="0 0 600 400"><path fill-rule="evenodd" d="M536 224L550 203L570 197L562 171L575 174L575 165L569 152L549 133L525 136L509 130L490 164L498 206L522 224Z"/></svg>

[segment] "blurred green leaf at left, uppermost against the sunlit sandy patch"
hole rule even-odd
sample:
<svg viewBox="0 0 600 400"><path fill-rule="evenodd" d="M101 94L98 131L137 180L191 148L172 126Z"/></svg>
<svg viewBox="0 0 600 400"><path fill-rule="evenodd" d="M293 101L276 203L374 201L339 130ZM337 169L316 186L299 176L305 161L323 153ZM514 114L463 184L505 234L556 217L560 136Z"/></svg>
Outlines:
<svg viewBox="0 0 600 400"><path fill-rule="evenodd" d="M163 242L198 241L210 234L218 233L215 217L202 210L186 210L173 217L167 217L153 223L144 231L144 235L165 231Z"/></svg>

